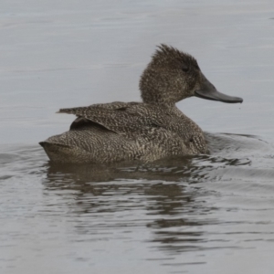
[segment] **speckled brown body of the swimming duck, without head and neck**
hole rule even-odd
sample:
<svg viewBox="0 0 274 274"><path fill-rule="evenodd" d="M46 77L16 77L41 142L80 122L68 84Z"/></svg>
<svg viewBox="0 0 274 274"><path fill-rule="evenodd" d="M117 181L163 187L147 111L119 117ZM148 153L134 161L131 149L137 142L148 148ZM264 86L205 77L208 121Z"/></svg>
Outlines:
<svg viewBox="0 0 274 274"><path fill-rule="evenodd" d="M153 162L174 155L208 153L202 130L176 107L113 102L59 112L80 118L68 132L40 142L55 162Z"/></svg>

